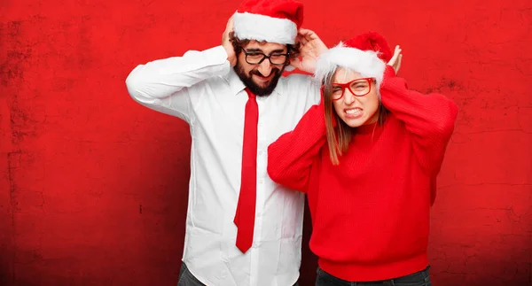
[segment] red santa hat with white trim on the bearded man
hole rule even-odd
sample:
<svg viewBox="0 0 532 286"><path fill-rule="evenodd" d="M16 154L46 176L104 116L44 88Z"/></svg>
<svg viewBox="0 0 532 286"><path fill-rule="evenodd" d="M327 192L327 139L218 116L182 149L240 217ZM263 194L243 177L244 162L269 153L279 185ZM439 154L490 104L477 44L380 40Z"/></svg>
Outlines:
<svg viewBox="0 0 532 286"><path fill-rule="evenodd" d="M294 0L245 0L233 16L240 40L293 44L303 22L303 5Z"/></svg>

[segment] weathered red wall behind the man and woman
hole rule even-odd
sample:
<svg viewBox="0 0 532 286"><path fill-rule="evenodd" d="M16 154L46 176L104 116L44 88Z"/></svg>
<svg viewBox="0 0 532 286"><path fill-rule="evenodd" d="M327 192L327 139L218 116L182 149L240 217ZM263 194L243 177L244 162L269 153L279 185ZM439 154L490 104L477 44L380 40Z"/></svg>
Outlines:
<svg viewBox="0 0 532 286"><path fill-rule="evenodd" d="M303 3L325 43L379 31L402 45L411 89L460 108L434 205L434 285L530 285L532 4ZM218 45L238 4L2 0L1 285L176 285L191 138L124 81ZM306 249L302 286L315 261Z"/></svg>

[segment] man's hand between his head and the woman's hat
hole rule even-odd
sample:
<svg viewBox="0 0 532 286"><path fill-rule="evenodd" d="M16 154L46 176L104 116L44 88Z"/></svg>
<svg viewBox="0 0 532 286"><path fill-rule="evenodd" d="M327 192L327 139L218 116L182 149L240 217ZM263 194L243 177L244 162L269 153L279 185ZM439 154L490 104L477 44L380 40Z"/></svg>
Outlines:
<svg viewBox="0 0 532 286"><path fill-rule="evenodd" d="M317 57L325 50L328 50L327 46L316 33L304 28L299 30L297 40L301 43L301 59L294 58L290 62L290 66L306 73L314 73L316 71Z"/></svg>

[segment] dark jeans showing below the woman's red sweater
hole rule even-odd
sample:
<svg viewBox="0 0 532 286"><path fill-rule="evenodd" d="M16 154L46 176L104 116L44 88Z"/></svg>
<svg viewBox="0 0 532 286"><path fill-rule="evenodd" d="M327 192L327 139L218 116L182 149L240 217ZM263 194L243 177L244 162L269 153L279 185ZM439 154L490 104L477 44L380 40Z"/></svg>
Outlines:
<svg viewBox="0 0 532 286"><path fill-rule="evenodd" d="M348 282L341 280L340 278L336 278L318 267L316 286L431 286L432 284L428 275L428 268L430 267L426 267L425 270L421 270L414 274L390 280L375 282Z"/></svg>

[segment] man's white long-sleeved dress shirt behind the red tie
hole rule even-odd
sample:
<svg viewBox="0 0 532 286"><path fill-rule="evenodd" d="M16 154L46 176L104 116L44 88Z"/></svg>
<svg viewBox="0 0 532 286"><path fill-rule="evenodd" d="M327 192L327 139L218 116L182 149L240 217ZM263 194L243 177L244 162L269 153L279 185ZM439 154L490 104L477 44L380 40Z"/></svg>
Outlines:
<svg viewBox="0 0 532 286"><path fill-rule="evenodd" d="M126 80L139 104L185 120L192 134L183 261L208 286L291 286L299 277L304 197L266 172L268 145L319 102L310 76L281 77L259 105L254 243L243 254L233 223L239 199L245 86L222 46L137 66Z"/></svg>

